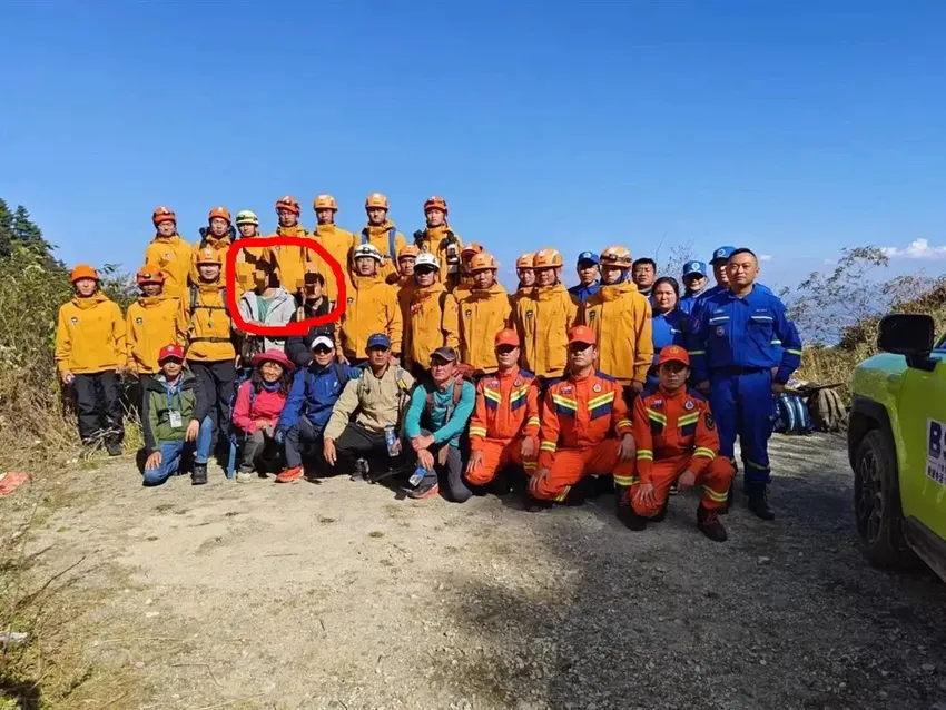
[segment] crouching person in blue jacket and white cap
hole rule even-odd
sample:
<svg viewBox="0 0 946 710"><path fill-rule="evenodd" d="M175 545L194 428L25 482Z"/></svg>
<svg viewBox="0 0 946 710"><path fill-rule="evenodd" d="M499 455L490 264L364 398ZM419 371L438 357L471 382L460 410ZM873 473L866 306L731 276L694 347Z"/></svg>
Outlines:
<svg viewBox="0 0 946 710"><path fill-rule="evenodd" d="M323 433L345 385L361 373L361 368L336 362L335 343L328 335L315 337L309 364L296 373L279 417L278 438L285 443L286 469L276 476L277 483L302 477L304 450L315 453L322 473L333 472L334 462L329 465L323 457Z"/></svg>

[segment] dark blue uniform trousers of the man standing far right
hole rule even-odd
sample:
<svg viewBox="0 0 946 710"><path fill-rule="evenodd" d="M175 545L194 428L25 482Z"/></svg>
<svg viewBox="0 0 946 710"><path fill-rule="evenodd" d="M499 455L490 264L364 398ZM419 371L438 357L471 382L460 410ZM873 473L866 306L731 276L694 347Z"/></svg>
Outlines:
<svg viewBox="0 0 946 710"><path fill-rule="evenodd" d="M739 436L743 482L769 483L771 371L713 372L710 375L710 405L719 430L720 455L735 462L736 437Z"/></svg>

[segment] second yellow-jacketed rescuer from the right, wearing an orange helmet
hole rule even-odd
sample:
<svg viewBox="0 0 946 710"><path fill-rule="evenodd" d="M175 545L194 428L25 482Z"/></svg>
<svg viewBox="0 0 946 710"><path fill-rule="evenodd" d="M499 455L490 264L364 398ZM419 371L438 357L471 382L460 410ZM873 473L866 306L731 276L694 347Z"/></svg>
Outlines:
<svg viewBox="0 0 946 710"><path fill-rule="evenodd" d="M515 302L512 323L522 342L522 366L541 383L561 377L568 363L569 331L578 307L562 286L562 255L558 249L539 249L533 259L535 288Z"/></svg>

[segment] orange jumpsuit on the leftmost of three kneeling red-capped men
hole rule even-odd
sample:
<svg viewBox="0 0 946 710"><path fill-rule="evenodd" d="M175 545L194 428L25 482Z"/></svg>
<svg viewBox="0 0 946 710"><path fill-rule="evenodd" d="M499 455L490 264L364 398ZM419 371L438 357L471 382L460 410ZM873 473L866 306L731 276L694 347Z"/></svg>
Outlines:
<svg viewBox="0 0 946 710"><path fill-rule="evenodd" d="M473 485L485 485L509 465L535 471L534 457L522 458L522 440L532 440L539 453L539 381L518 366L496 372L476 385L476 408L470 420L470 451L483 454L483 463L466 474Z"/></svg>

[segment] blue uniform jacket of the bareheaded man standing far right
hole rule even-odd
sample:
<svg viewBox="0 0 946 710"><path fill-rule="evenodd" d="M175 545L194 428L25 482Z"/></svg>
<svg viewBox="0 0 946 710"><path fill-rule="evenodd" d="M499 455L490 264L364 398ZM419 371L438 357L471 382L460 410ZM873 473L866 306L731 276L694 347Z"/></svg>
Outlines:
<svg viewBox="0 0 946 710"><path fill-rule="evenodd" d="M768 289L743 298L729 289L702 302L688 338L696 382L707 382L726 367L778 368L775 381L788 382L801 364L801 339L785 306Z"/></svg>

